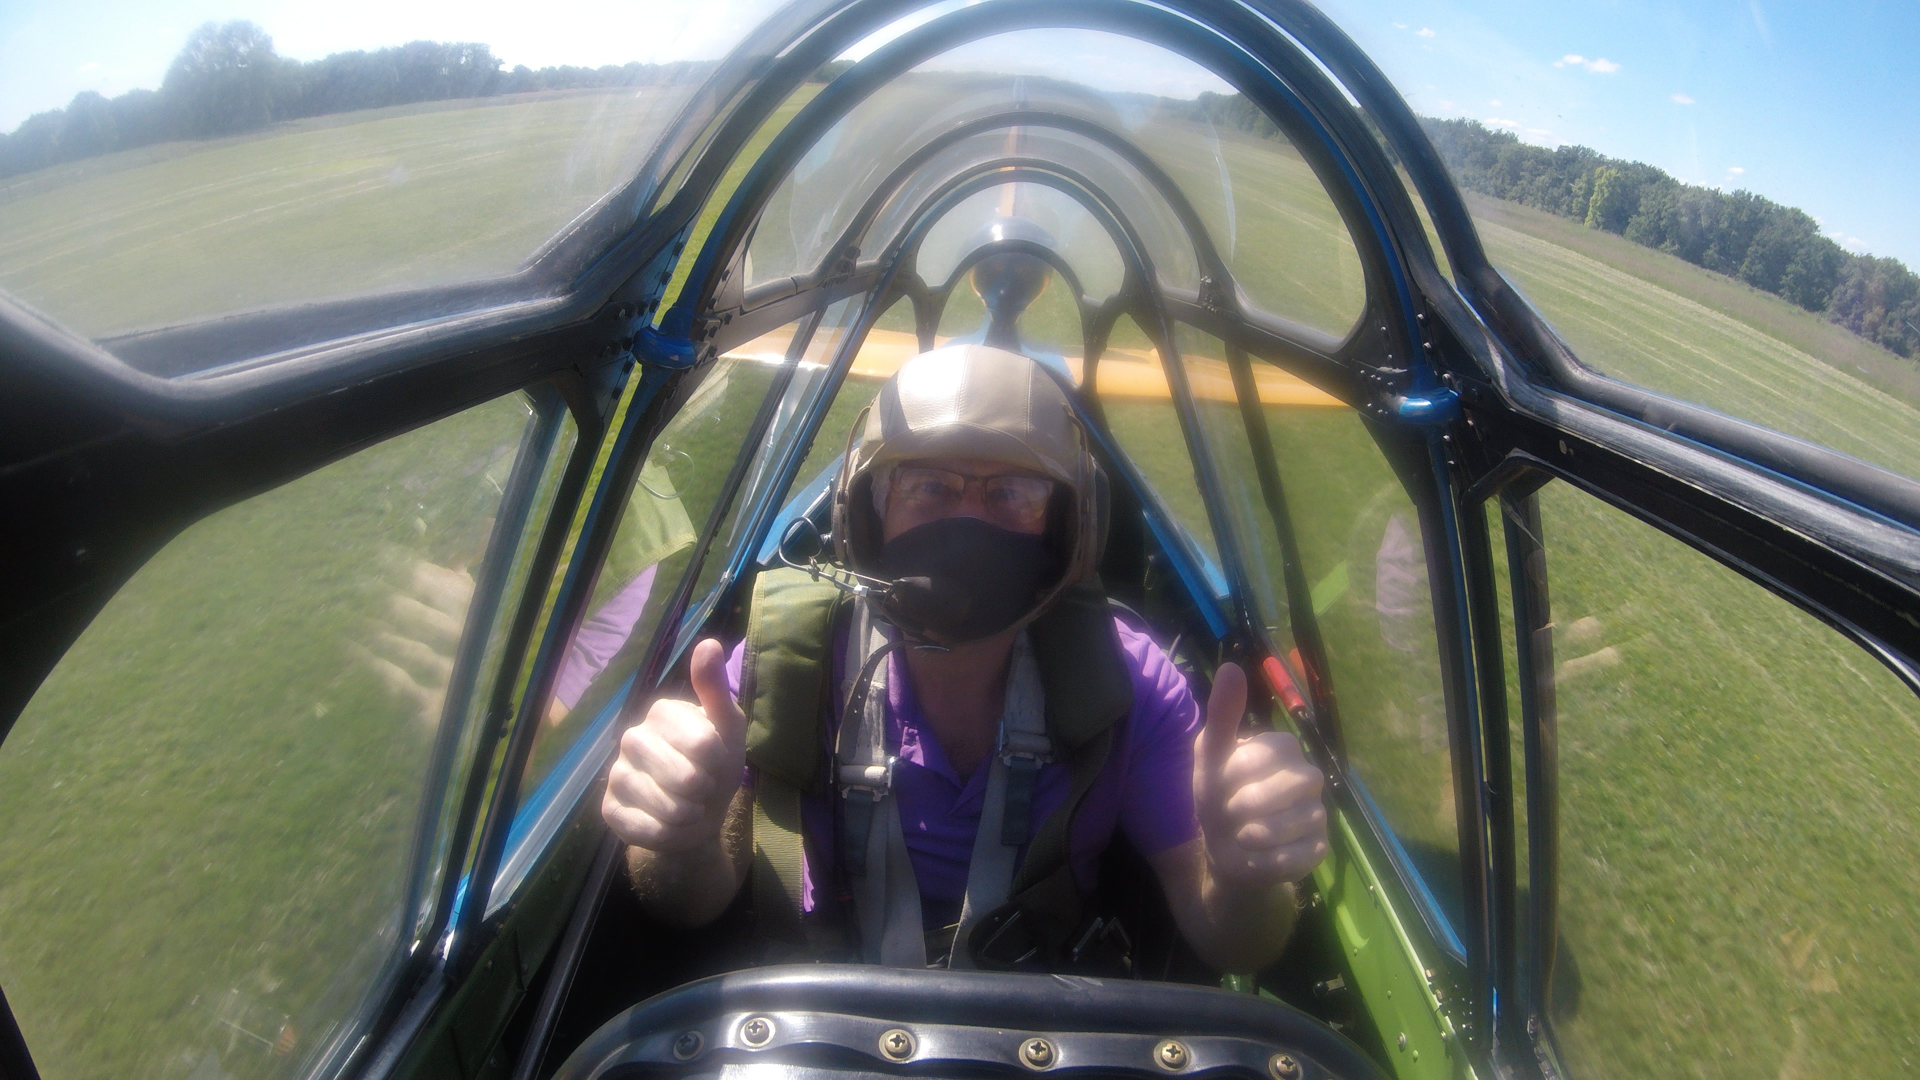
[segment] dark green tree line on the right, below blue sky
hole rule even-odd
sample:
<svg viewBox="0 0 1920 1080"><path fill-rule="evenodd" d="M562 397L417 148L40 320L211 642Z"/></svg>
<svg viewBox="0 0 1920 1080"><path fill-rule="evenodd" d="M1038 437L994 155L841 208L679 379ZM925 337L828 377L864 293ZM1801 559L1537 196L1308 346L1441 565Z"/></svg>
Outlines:
<svg viewBox="0 0 1920 1080"><path fill-rule="evenodd" d="M1200 94L1196 117L1263 138L1281 133L1240 94ZM1855 256L1803 209L1747 190L1676 181L1586 146L1528 146L1471 119L1421 119L1465 190L1571 217L1772 292L1899 356L1920 356L1920 275Z"/></svg>

